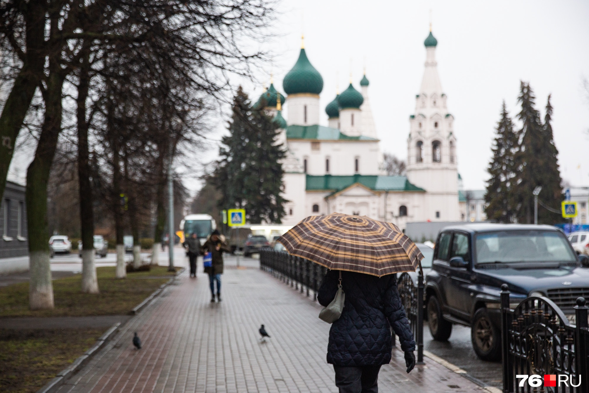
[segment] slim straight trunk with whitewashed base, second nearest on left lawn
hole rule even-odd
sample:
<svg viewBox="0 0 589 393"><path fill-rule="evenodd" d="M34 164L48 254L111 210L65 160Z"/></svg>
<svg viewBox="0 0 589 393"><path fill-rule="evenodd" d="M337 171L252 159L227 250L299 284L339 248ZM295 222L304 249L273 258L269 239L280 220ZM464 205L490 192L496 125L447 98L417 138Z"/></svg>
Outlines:
<svg viewBox="0 0 589 393"><path fill-rule="evenodd" d="M88 58L84 59L84 66ZM94 264L94 212L92 186L90 185L90 153L88 152L88 122L86 99L90 76L87 67L80 70L78 86L78 181L80 182L80 227L82 232L82 292L99 293L96 266Z"/></svg>

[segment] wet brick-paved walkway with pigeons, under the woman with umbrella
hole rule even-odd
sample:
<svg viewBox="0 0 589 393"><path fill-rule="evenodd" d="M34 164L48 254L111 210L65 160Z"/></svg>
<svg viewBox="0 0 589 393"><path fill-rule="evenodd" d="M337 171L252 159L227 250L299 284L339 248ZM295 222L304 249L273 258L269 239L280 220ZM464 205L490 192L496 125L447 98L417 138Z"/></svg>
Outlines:
<svg viewBox="0 0 589 393"><path fill-rule="evenodd" d="M336 392L325 361L329 326L320 306L241 260L228 258L222 303L210 303L209 280L187 273L59 388L65 392ZM272 338L259 341L261 324ZM137 332L139 351L131 338ZM405 373L403 353L382 367L381 392L479 392L482 388L426 358Z"/></svg>

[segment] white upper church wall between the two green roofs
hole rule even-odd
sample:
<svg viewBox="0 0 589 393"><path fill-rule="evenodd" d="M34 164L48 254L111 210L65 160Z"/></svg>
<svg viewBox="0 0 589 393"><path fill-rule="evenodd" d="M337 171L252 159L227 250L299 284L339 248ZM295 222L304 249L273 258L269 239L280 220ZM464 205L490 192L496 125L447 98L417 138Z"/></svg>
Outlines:
<svg viewBox="0 0 589 393"><path fill-rule="evenodd" d="M359 159L361 175L379 174L378 141L311 141L289 140L289 148L301 163L307 160L309 175L353 175L355 159ZM329 158L329 172L326 159Z"/></svg>

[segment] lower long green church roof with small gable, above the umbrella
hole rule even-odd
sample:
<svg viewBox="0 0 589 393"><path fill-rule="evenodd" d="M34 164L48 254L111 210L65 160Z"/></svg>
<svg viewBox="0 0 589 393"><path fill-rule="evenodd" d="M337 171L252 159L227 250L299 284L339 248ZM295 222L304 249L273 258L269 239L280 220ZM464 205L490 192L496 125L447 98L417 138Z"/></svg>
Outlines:
<svg viewBox="0 0 589 393"><path fill-rule="evenodd" d="M334 176L307 175L307 191L342 191L352 184L362 184L373 191L414 191L425 192L425 189L411 184L406 176L376 176L376 175L352 175Z"/></svg>

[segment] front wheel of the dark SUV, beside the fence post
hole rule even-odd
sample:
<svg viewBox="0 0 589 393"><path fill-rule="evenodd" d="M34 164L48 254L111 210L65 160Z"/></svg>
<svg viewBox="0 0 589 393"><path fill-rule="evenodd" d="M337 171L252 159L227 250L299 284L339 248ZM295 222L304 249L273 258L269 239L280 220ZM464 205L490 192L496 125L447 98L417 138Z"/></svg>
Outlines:
<svg viewBox="0 0 589 393"><path fill-rule="evenodd" d="M472 348L479 359L498 361L501 358L501 335L491 323L487 309L478 309L472 318Z"/></svg>

